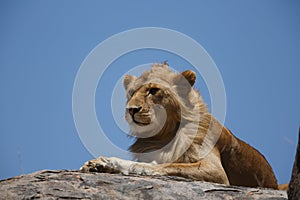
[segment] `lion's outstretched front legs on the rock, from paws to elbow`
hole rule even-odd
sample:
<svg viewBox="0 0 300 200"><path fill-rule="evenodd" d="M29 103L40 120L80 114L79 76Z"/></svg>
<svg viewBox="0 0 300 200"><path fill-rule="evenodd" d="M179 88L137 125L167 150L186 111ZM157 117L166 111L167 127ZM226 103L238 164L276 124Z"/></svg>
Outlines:
<svg viewBox="0 0 300 200"><path fill-rule="evenodd" d="M122 173L125 175L169 175L229 185L227 175L218 157L209 155L196 163L153 164L99 157L86 162L80 170L85 172Z"/></svg>

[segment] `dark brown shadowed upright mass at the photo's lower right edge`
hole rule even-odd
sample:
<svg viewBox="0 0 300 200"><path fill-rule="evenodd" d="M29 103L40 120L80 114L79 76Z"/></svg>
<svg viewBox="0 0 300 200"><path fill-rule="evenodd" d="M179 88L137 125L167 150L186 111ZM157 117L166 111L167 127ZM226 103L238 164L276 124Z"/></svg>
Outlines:
<svg viewBox="0 0 300 200"><path fill-rule="evenodd" d="M288 197L290 200L300 199L300 128L298 136L298 147L296 152L296 158L294 161L292 178L289 183Z"/></svg>

